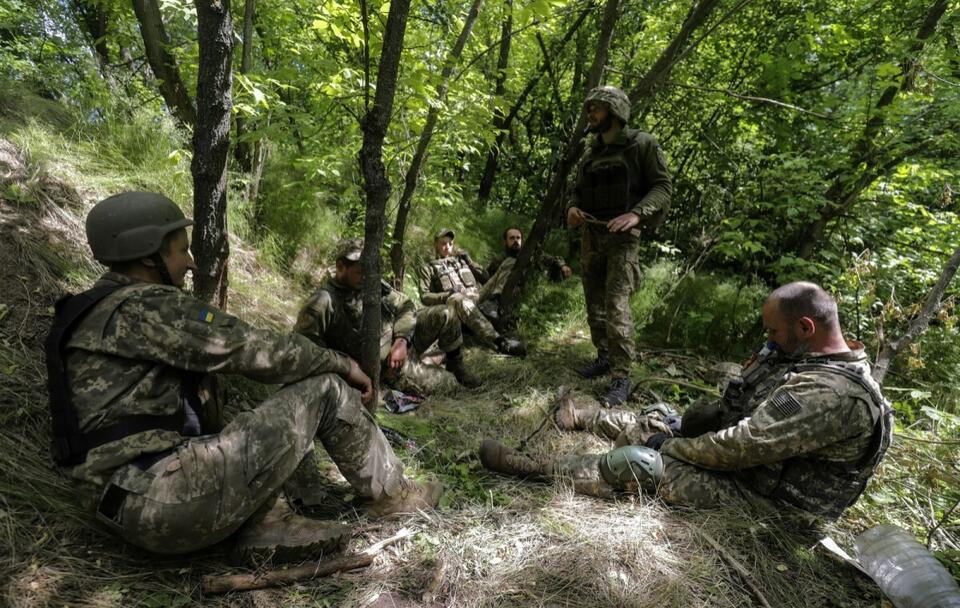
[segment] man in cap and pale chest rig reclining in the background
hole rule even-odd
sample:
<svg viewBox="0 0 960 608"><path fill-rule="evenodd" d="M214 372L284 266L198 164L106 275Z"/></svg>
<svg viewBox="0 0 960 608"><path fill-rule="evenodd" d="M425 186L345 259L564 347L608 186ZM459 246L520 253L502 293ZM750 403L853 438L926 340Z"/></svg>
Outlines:
<svg viewBox="0 0 960 608"><path fill-rule="evenodd" d="M446 304L460 323L480 340L494 346L497 352L525 356L527 345L500 335L478 308L480 286L487 280L487 274L468 253L453 254L453 238L453 230L444 229L437 233L434 239L437 257L427 262L420 272L420 301L425 306Z"/></svg>

